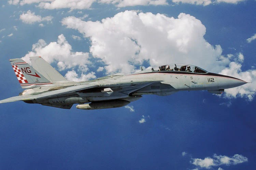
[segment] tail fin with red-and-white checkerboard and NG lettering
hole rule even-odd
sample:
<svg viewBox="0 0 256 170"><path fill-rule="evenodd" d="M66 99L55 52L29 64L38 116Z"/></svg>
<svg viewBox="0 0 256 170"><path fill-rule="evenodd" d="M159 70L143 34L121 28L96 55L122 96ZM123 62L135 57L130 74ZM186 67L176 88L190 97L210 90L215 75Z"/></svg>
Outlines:
<svg viewBox="0 0 256 170"><path fill-rule="evenodd" d="M33 88L40 85L52 84L38 71L20 58L10 59L12 68L22 88Z"/></svg>

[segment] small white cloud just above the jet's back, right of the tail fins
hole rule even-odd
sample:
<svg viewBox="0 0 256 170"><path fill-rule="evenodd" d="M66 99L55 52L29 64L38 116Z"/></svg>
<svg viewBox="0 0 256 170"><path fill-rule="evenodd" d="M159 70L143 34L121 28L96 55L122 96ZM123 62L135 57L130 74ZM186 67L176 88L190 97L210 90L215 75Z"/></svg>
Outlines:
<svg viewBox="0 0 256 170"><path fill-rule="evenodd" d="M95 76L95 72L89 72L86 74L82 73L79 77L76 71L71 70L66 73L65 78L69 81L79 82L79 81L87 81L90 79L95 79L96 76Z"/></svg>

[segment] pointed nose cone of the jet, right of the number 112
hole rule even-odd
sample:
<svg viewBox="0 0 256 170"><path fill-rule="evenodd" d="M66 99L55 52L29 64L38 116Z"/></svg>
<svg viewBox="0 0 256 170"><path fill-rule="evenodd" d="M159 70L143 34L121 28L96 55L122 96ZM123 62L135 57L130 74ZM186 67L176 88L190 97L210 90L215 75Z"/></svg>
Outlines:
<svg viewBox="0 0 256 170"><path fill-rule="evenodd" d="M218 78L219 81L219 86L225 88L233 88L233 87L238 87L246 84L246 81L243 81L238 78L230 77L227 75L222 75L221 77Z"/></svg>

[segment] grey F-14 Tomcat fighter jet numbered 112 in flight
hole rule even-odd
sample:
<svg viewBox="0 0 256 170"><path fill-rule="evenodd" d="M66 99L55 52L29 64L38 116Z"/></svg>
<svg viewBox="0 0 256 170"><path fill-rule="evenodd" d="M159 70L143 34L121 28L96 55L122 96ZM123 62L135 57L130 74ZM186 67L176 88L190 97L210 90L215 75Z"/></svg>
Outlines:
<svg viewBox="0 0 256 170"><path fill-rule="evenodd" d="M70 109L122 107L142 95L167 96L181 90L208 90L222 94L224 89L247 82L211 73L188 64L168 64L133 73L116 73L95 80L72 82L66 80L42 57L30 57L32 66L22 59L10 59L22 88L19 96L0 100L0 103L24 101L45 106Z"/></svg>

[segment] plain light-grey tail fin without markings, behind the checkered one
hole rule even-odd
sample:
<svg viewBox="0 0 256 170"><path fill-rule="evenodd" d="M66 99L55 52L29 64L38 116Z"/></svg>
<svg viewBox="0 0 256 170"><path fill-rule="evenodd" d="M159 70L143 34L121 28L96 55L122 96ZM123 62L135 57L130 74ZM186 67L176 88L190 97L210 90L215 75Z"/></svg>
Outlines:
<svg viewBox="0 0 256 170"><path fill-rule="evenodd" d="M51 82L67 81L58 71L56 71L41 56L29 57L32 66Z"/></svg>

